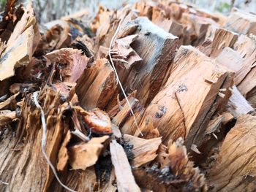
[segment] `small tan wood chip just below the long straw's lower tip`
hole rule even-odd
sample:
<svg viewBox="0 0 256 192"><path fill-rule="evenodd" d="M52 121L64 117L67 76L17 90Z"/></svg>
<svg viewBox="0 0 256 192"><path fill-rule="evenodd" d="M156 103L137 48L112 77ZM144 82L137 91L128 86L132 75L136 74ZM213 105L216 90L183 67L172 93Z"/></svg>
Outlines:
<svg viewBox="0 0 256 192"><path fill-rule="evenodd" d="M157 150L162 140L161 137L154 139L141 139L129 134L124 134L124 141L132 145L134 159L132 165L140 167L157 157Z"/></svg>

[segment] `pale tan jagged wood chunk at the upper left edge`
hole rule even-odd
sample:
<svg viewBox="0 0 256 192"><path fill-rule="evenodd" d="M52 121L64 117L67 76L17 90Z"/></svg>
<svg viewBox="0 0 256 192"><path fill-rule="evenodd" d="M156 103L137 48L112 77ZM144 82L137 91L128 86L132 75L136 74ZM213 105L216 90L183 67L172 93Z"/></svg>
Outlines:
<svg viewBox="0 0 256 192"><path fill-rule="evenodd" d="M31 4L28 4L1 53L0 81L12 77L19 66L29 64L39 39L34 11Z"/></svg>

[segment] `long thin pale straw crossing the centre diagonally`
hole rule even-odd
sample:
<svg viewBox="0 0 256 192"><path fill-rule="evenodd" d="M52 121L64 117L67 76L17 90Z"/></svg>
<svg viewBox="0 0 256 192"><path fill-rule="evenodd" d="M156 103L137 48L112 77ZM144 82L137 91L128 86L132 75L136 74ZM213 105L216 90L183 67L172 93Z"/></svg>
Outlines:
<svg viewBox="0 0 256 192"><path fill-rule="evenodd" d="M109 51L108 51L108 55L109 55L109 58L110 58L110 63L111 63L111 65L113 66L114 72L115 72L115 74L116 74L116 80L117 80L118 84L120 85L121 91L124 93L124 97L125 97L125 99L127 100L127 104L128 104L128 106L129 106L129 110L130 110L131 113L132 113L133 119L134 119L134 121L135 121L135 126L138 128L138 131L140 132L140 135L143 137L143 134L142 134L142 132L140 131L140 128L139 128L138 123L137 123L137 120L136 120L136 118L135 118L135 114L134 114L134 112L133 112L133 110L132 110L132 106L131 106L131 104L129 103L129 99L127 98L127 94L125 93L123 86L121 85L121 81L119 80L118 73L117 73L117 71L116 71L116 67L115 67L115 65L113 64L113 59L112 59L112 57L111 57L111 47L112 47L112 45L113 45L113 41L114 41L115 38L116 38L116 34L118 33L118 30L119 30L119 28L120 28L120 26L121 26L121 22L122 22L123 20L124 20L124 18L123 18L122 20L120 20L120 22L118 23L118 27L116 28L116 32L115 32L115 34L113 35L113 37L112 37L112 39L111 39L110 46L109 46Z"/></svg>

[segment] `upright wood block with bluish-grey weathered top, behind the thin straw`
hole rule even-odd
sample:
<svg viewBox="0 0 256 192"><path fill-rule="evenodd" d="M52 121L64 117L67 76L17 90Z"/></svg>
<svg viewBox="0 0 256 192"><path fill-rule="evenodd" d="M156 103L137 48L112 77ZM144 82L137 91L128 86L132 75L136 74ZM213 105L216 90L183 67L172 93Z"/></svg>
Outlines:
<svg viewBox="0 0 256 192"><path fill-rule="evenodd" d="M132 67L129 70L129 78L123 77L121 83L127 93L137 90L136 98L140 99L141 104L147 105L159 91L165 72L173 60L178 37L154 25L148 18L138 17L122 23L121 29L133 23L138 24L135 31L138 38L131 47L143 61ZM149 51L154 54L148 54Z"/></svg>

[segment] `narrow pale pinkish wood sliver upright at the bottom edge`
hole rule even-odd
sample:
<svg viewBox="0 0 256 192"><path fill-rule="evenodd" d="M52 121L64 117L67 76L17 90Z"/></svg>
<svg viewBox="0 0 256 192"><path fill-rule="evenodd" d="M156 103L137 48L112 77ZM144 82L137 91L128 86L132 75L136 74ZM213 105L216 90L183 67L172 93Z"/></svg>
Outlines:
<svg viewBox="0 0 256 192"><path fill-rule="evenodd" d="M118 191L140 191L139 186L135 183L127 155L123 147L116 140L110 142L111 161L116 173L116 183Z"/></svg>

